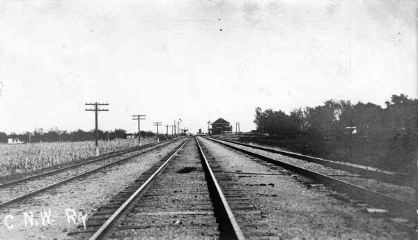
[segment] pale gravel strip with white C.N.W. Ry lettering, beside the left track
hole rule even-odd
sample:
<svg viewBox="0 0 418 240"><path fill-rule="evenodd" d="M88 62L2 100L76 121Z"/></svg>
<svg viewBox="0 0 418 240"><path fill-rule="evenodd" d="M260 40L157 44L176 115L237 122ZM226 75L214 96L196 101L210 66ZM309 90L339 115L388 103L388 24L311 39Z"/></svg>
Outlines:
<svg viewBox="0 0 418 240"><path fill-rule="evenodd" d="M97 211L102 204L107 204L112 196L128 186L140 174L184 141L173 142L162 149L127 160L121 165L109 167L83 179L71 181L36 195L30 200L0 209L0 239L71 239L67 233L77 230L77 227L83 227L81 214L86 216L85 220L88 220L91 213ZM45 220L44 226L42 218L40 218L40 211L49 210L51 224L48 225ZM65 210L68 211L68 214ZM33 213L33 225L29 218L31 212ZM68 219L72 213L76 215L75 221L72 218ZM5 218L8 215L6 225ZM7 226L11 225L13 225L13 229L8 229Z"/></svg>

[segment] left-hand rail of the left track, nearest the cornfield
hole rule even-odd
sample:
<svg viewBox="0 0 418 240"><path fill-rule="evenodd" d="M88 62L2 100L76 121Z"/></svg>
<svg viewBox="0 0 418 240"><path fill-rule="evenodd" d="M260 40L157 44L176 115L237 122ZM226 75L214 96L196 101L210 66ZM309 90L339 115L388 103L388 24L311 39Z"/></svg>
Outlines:
<svg viewBox="0 0 418 240"><path fill-rule="evenodd" d="M41 174L36 174L36 175L30 176L30 177L17 179L17 180L14 180L14 181L8 181L6 183L0 184L0 189L1 188L6 188L7 186L10 186L10 185L15 185L17 183L22 183L24 181L29 181L29 180L32 180L32 179L38 179L39 177L44 177L44 176L56 174L56 173L63 172L65 170L69 170L69 169L72 169L72 168L75 168L75 167L79 167L79 166L86 165L86 164L89 164L89 163L95 163L95 162L98 162L98 161L103 160L103 159L112 158L114 156L119 156L119 155L122 155L124 153L130 153L131 151L138 151L138 150L141 150L141 149L146 149L147 147L153 147L157 144L162 144L164 142L170 142L170 141L173 141L173 139L165 140L165 141L162 141L162 142L150 143L150 144L143 145L141 147L133 147L133 148L130 148L130 149L122 150L118 153L113 153L111 155L102 156L102 157L99 157L99 158L94 158L92 160L88 160L88 161L83 162L83 163L77 163L75 165L70 165L68 167L63 167L63 168L60 168L59 170L52 170L52 171L49 171L49 172L42 172Z"/></svg>

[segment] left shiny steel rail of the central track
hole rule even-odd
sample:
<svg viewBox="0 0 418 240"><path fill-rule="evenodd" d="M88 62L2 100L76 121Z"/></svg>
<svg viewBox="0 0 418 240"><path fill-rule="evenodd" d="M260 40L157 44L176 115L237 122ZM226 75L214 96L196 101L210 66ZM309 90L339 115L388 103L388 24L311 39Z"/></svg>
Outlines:
<svg viewBox="0 0 418 240"><path fill-rule="evenodd" d="M103 223L103 225L100 226L100 228L93 234L93 236L90 237L90 240L95 239L101 239L102 237L109 232L111 227L116 223L116 221L125 213L128 207L132 205L134 202L134 199L140 195L146 188L148 188L150 182L164 170L164 168L167 166L167 164L177 155L178 151L183 149L185 144L189 142L190 139L186 140L178 149L175 151L169 159L167 159L123 204L121 207L119 207L108 219L106 222Z"/></svg>

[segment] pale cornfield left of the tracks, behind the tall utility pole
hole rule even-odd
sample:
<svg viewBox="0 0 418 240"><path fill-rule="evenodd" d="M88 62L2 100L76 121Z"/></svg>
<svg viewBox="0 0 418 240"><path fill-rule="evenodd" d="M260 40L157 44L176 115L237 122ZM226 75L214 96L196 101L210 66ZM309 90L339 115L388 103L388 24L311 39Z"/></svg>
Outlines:
<svg viewBox="0 0 418 240"><path fill-rule="evenodd" d="M100 154L136 147L137 141L137 139L99 141ZM150 142L153 142L152 138L141 140L142 144ZM33 172L91 156L95 156L93 141L0 144L0 176Z"/></svg>

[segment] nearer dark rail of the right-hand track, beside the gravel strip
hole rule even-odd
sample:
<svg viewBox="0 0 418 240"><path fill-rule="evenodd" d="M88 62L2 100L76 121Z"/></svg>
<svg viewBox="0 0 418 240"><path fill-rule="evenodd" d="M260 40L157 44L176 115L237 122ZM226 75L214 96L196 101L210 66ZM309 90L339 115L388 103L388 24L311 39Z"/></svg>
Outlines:
<svg viewBox="0 0 418 240"><path fill-rule="evenodd" d="M295 172L297 174L301 174L307 177L307 179L305 179L307 182L314 183L314 184L320 183L320 184L324 184L325 186L330 186L334 188L334 190L336 190L337 192L343 193L343 195L348 194L350 197L353 197L353 199L362 200L363 202L366 202L366 204L371 204L371 206L373 207L379 207L381 209L392 211L392 213L400 214L404 218L409 218L409 219L415 218L417 207L418 207L416 204L398 200L394 197L390 197L388 195L384 195L374 190L369 190L367 188L363 188L362 186L357 186L355 184L348 183L346 181L341 181L340 179L336 179L334 177L330 177L325 174L315 172L313 170L308 170L307 168L304 168L304 167L300 167L300 166L293 165L290 163L285 163L283 161L266 156L262 153L256 153L255 151L238 147L237 144L231 144L228 141L217 140L211 137L206 137L206 139L212 140L214 142L222 144L231 149L235 149L249 156L253 156L267 163L272 163L273 165L282 167L285 170Z"/></svg>

